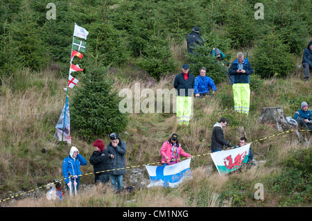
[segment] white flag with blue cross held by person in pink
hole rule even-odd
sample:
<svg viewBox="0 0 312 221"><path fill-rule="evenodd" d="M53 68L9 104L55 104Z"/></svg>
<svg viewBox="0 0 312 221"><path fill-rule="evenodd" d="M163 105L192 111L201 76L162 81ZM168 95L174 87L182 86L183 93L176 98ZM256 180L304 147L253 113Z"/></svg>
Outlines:
<svg viewBox="0 0 312 221"><path fill-rule="evenodd" d="M147 187L164 186L174 188L184 180L192 179L190 163L191 159L189 158L168 166L145 166L150 176L150 184Z"/></svg>

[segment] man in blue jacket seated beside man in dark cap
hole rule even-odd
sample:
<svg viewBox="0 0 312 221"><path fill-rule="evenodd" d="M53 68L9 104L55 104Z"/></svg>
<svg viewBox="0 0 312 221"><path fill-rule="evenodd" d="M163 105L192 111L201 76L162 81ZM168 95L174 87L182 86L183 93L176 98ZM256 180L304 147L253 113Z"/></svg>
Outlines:
<svg viewBox="0 0 312 221"><path fill-rule="evenodd" d="M196 97L202 98L203 96L216 93L216 85L214 85L214 80L206 76L206 68L200 68L200 76L195 78L194 83L194 94Z"/></svg>

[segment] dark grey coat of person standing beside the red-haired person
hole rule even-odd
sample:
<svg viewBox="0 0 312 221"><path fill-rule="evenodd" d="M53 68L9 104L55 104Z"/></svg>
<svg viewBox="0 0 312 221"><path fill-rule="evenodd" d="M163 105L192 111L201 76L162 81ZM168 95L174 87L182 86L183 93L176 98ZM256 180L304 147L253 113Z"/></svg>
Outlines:
<svg viewBox="0 0 312 221"><path fill-rule="evenodd" d="M114 148L112 146L112 142L108 143L105 150L107 152L110 152L110 154L114 155L114 159L108 161L109 162L109 167L113 169L112 175L123 175L125 174L125 152L127 151L126 145L124 141L121 141L119 139L119 143ZM115 170L118 168L123 168L121 170Z"/></svg>

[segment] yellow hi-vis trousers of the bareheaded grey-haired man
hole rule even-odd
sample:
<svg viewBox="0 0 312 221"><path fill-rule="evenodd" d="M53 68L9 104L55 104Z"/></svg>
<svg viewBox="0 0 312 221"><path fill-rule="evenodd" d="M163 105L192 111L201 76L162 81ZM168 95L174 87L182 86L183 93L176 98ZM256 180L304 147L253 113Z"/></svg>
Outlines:
<svg viewBox="0 0 312 221"><path fill-rule="evenodd" d="M249 114L250 87L249 84L233 85L234 110L239 113Z"/></svg>

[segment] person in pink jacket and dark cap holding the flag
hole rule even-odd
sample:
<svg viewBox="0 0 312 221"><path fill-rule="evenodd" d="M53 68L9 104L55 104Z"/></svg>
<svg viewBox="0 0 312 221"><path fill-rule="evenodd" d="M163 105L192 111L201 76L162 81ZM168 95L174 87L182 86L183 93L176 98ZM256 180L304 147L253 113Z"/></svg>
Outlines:
<svg viewBox="0 0 312 221"><path fill-rule="evenodd" d="M181 148L181 144L177 141L177 134L172 134L171 139L162 144L160 154L162 154L162 164L164 166L178 163L180 156L193 157Z"/></svg>

